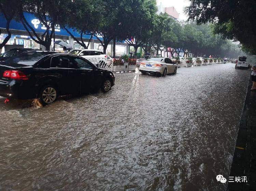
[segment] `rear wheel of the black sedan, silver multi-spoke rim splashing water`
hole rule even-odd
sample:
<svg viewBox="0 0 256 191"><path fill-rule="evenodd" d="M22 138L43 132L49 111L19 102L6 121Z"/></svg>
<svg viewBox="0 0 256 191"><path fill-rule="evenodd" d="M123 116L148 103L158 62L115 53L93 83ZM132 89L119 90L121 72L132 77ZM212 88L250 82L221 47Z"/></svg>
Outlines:
<svg viewBox="0 0 256 191"><path fill-rule="evenodd" d="M39 92L39 101L45 106L53 103L57 99L57 90L52 85L44 86Z"/></svg>

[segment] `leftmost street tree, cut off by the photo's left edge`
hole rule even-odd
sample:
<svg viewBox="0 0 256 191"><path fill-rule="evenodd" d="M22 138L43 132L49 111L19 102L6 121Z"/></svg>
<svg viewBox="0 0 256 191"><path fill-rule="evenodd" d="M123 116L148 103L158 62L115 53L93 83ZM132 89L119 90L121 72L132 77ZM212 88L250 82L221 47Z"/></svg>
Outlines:
<svg viewBox="0 0 256 191"><path fill-rule="evenodd" d="M0 14L2 14L6 20L6 32L8 36L5 37L2 43L0 43L0 50L4 47L4 45L11 38L10 31L10 22L17 16L17 9L13 8L13 5L17 5L17 0L0 0ZM0 29L0 35L2 34L2 30ZM1 51L0 51L1 52Z"/></svg>

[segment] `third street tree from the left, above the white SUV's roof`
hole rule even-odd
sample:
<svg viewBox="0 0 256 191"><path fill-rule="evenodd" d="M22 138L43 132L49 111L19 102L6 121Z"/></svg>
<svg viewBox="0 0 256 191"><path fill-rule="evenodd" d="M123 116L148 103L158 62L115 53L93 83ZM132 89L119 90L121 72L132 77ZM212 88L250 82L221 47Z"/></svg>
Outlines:
<svg viewBox="0 0 256 191"><path fill-rule="evenodd" d="M68 9L66 9L66 17L61 20L60 26L65 29L69 35L82 47L88 49L89 43L86 45L83 40L83 35L90 35L91 40L94 33L96 32L99 21L102 19L102 15L98 7L100 6L99 0L80 0L80 1L69 1ZM80 33L80 38L76 38L72 31Z"/></svg>

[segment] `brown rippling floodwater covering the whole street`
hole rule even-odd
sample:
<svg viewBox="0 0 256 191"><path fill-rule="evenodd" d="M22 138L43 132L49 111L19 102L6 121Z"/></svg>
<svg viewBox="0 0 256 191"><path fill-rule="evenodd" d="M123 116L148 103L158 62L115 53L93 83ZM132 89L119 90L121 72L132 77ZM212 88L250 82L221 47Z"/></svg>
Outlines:
<svg viewBox="0 0 256 191"><path fill-rule="evenodd" d="M249 74L121 73L41 108L0 98L0 190L225 190Z"/></svg>

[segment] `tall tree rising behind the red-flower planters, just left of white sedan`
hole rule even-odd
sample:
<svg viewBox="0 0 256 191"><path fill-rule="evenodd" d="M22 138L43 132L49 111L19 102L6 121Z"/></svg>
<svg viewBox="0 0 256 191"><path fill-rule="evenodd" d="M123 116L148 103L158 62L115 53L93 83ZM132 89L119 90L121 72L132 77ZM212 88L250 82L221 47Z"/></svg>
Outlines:
<svg viewBox="0 0 256 191"><path fill-rule="evenodd" d="M134 0L130 3L130 16L128 19L128 36L125 40L134 47L135 57L137 50L145 43L147 44L153 29L153 19L156 14L156 2L154 0Z"/></svg>

